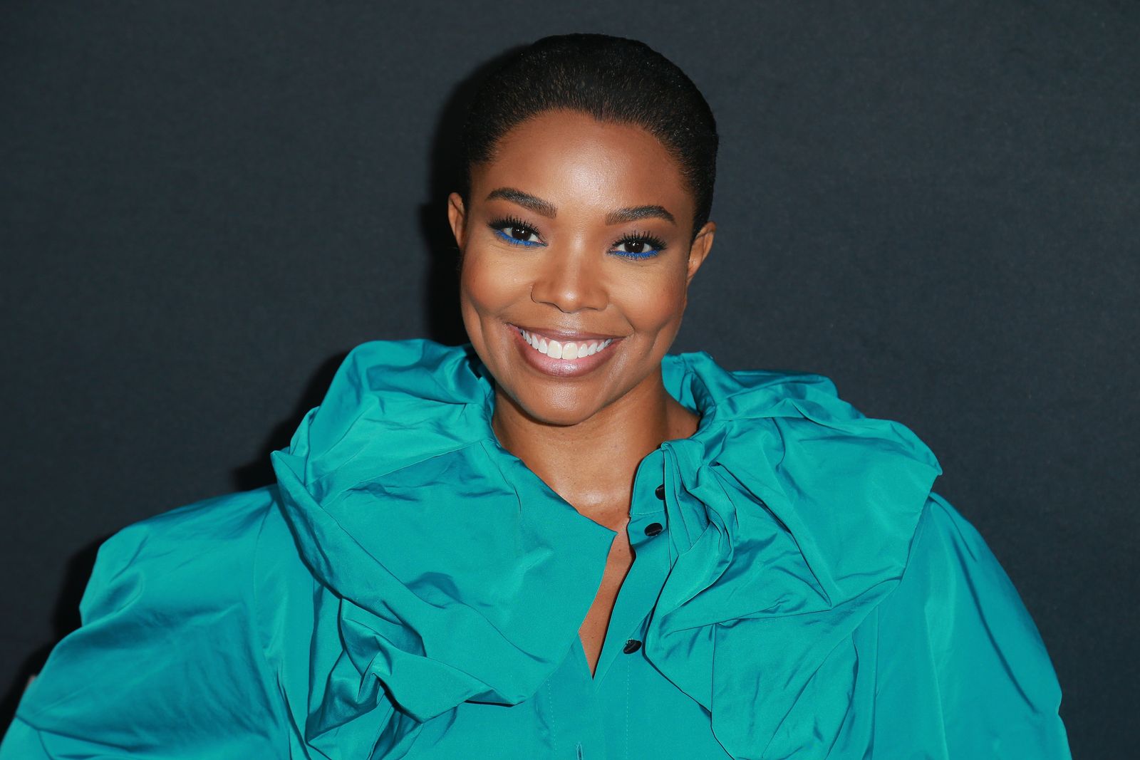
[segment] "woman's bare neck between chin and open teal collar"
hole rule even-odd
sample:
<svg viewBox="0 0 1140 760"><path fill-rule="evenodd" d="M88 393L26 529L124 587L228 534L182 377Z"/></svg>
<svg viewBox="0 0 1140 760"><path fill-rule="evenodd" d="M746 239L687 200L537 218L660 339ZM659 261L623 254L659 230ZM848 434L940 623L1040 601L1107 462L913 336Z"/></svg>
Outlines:
<svg viewBox="0 0 1140 760"><path fill-rule="evenodd" d="M575 425L535 419L495 390L491 426L503 447L559 496L613 528L628 517L637 465L662 441L687 438L700 418L665 390L661 374Z"/></svg>

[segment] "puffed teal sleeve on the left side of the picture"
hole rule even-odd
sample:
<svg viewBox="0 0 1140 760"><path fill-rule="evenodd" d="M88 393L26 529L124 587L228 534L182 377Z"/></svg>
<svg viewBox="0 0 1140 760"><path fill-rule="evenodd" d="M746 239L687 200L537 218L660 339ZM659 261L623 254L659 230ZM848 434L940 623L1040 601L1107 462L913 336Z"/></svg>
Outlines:
<svg viewBox="0 0 1140 760"><path fill-rule="evenodd" d="M0 760L287 755L252 622L255 506L221 497L108 539Z"/></svg>

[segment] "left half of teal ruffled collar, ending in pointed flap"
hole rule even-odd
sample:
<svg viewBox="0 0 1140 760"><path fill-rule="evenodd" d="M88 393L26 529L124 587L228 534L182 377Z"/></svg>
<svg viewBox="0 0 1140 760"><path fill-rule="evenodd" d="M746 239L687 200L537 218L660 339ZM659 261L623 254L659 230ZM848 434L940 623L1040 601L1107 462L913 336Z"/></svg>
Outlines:
<svg viewBox="0 0 1140 760"><path fill-rule="evenodd" d="M274 453L286 520L336 620L315 632L312 651L335 656L312 663L323 686L306 726L329 758L370 757L377 737L394 749L467 700L529 697L601 582L613 531L497 444L492 389L471 357L358 346ZM414 721L393 722L388 697Z"/></svg>

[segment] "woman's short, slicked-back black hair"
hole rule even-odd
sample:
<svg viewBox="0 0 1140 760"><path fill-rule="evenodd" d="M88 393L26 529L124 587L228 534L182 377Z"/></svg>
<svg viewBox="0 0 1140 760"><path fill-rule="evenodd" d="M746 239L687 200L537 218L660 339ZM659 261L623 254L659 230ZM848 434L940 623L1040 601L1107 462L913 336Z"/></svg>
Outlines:
<svg viewBox="0 0 1140 760"><path fill-rule="evenodd" d="M494 158L504 134L547 111L577 111L657 137L693 195L693 235L708 221L718 142L712 109L671 60L644 42L606 34L543 38L483 80L463 129L465 196L471 169Z"/></svg>

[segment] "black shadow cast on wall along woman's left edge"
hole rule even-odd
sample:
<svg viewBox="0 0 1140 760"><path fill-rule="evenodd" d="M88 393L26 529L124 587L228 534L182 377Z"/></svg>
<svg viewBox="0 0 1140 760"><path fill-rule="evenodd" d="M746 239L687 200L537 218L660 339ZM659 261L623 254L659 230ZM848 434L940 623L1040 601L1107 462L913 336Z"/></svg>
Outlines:
<svg viewBox="0 0 1140 760"><path fill-rule="evenodd" d="M479 84L518 49L488 60L462 80L443 101L435 121L430 160L430 197L420 206L420 229L429 252L429 269L423 294L427 337L447 345L467 341L459 312L459 251L447 223L447 196L453 191L462 191L465 183L463 122ZM345 352L340 352L320 363L294 404L293 412L266 436L258 457L230 472L230 484L234 490L247 491L276 482L269 453L290 444L293 431L304 415L324 399L333 375L347 356ZM56 599L51 620L55 640L40 646L24 660L15 681L3 694L0 701L0 735L16 713L16 705L28 679L40 672L59 639L79 628L79 603L91 577L99 546L108 538L109 534L91 541L67 561L63 587Z"/></svg>

